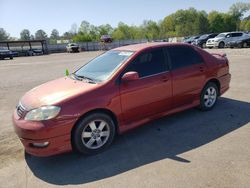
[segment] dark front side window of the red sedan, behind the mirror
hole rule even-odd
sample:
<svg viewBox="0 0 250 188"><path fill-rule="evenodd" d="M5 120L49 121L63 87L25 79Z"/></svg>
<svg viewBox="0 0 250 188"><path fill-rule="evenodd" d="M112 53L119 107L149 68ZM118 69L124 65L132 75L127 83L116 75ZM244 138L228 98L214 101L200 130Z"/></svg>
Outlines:
<svg viewBox="0 0 250 188"><path fill-rule="evenodd" d="M163 49L142 52L128 65L125 72L129 71L138 72L140 77L167 71Z"/></svg>

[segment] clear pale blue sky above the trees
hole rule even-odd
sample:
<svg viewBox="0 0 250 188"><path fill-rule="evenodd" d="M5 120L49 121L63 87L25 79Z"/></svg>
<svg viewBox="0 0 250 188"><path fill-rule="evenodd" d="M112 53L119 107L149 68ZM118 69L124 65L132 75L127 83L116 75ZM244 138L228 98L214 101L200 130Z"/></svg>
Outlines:
<svg viewBox="0 0 250 188"><path fill-rule="evenodd" d="M86 20L93 25L122 21L140 25L143 20L163 20L179 9L194 7L210 12L227 12L237 0L0 0L0 28L12 37L20 37L23 29L34 34L43 29L48 35L57 29L62 35L72 24ZM250 2L250 0L240 0Z"/></svg>

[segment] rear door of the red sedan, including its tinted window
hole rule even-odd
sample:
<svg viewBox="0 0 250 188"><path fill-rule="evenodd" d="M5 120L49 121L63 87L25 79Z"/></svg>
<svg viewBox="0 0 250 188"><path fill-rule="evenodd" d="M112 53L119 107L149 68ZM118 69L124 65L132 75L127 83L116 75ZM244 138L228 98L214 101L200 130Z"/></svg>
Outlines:
<svg viewBox="0 0 250 188"><path fill-rule="evenodd" d="M172 46L166 49L171 62L173 107L192 104L199 99L207 67L192 47Z"/></svg>

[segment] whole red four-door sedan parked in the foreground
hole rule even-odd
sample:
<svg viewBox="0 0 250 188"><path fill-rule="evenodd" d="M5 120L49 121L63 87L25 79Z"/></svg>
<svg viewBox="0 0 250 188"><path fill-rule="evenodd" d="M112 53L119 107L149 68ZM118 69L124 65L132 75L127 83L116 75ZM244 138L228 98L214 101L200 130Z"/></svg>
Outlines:
<svg viewBox="0 0 250 188"><path fill-rule="evenodd" d="M93 154L159 117L211 110L230 79L225 55L179 43L124 46L27 92L13 123L32 155Z"/></svg>

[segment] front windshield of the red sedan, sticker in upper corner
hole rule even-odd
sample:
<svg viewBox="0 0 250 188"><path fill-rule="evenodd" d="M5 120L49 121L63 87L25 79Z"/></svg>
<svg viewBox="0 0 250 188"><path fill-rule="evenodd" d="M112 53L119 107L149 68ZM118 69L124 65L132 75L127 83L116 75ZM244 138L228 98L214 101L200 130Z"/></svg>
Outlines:
<svg viewBox="0 0 250 188"><path fill-rule="evenodd" d="M108 51L81 67L74 74L86 77L94 81L107 80L121 66L133 52L130 51Z"/></svg>

